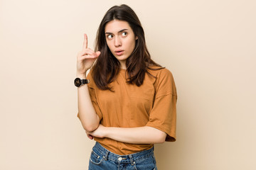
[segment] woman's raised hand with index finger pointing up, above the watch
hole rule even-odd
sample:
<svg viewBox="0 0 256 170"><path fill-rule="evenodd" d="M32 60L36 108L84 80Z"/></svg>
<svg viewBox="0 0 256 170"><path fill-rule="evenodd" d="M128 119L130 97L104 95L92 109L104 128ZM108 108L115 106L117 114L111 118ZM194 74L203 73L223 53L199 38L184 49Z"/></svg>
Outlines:
<svg viewBox="0 0 256 170"><path fill-rule="evenodd" d="M87 43L87 35L84 34L82 51L78 52L77 56L77 76L81 78L85 77L87 70L92 67L92 64L100 55L100 51L95 52L94 50L88 48Z"/></svg>

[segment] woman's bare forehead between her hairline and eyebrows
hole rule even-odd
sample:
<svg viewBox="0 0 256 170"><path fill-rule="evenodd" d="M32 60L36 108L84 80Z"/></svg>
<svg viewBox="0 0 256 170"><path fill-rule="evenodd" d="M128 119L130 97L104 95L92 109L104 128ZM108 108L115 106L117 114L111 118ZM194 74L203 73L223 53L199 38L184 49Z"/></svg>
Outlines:
<svg viewBox="0 0 256 170"><path fill-rule="evenodd" d="M105 33L118 33L119 30L132 30L127 21L112 20L105 26Z"/></svg>

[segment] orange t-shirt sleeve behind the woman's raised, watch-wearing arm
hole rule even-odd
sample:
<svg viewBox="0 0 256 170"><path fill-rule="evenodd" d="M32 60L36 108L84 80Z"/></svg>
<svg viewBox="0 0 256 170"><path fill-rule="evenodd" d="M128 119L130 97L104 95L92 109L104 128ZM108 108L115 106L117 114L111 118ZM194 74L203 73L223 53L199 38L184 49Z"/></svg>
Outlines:
<svg viewBox="0 0 256 170"><path fill-rule="evenodd" d="M87 84L87 86L88 86L88 89L89 89L89 94L90 94L90 99L92 101L92 106L95 108L95 112L99 116L100 120L102 120L102 112L100 111L100 107L97 103L97 96L96 96L96 93L95 93L95 90L96 90L97 86L96 86L95 82L93 81L92 75L90 74L90 72L87 75L86 79L90 80L90 83ZM80 119L79 113L78 113L78 118Z"/></svg>

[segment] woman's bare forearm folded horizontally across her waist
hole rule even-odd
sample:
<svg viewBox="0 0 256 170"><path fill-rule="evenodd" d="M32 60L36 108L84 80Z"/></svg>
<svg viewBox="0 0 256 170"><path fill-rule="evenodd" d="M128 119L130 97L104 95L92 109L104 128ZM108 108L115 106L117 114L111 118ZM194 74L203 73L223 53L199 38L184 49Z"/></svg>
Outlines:
<svg viewBox="0 0 256 170"><path fill-rule="evenodd" d="M87 132L90 139L93 137L108 137L119 142L132 144L156 144L163 143L166 140L166 133L152 128L143 126L138 128L114 128L99 125L93 132ZM91 135L91 136L90 136Z"/></svg>

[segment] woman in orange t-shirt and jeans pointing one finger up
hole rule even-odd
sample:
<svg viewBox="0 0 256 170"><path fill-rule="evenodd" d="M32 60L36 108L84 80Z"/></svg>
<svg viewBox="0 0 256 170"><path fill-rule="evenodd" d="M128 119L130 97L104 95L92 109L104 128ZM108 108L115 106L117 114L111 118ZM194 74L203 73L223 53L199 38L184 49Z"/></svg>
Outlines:
<svg viewBox="0 0 256 170"><path fill-rule="evenodd" d="M154 144L176 140L171 72L151 60L139 18L127 5L103 17L96 52L84 38L75 85L78 118L96 141L89 169L157 169Z"/></svg>

